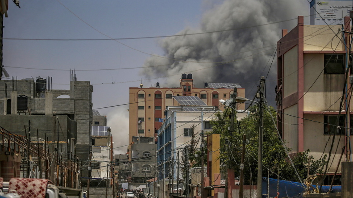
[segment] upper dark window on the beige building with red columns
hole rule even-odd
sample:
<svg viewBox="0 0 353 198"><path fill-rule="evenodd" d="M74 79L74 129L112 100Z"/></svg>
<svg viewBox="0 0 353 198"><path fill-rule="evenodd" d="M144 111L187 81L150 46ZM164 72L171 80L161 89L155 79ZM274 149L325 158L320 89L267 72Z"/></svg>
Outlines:
<svg viewBox="0 0 353 198"><path fill-rule="evenodd" d="M344 54L325 54L324 74L344 74L345 62Z"/></svg>

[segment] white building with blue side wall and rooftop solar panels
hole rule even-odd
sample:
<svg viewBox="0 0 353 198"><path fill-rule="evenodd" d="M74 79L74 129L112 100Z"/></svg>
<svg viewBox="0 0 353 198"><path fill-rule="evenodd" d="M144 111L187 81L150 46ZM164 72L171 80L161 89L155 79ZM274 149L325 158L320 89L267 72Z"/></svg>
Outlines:
<svg viewBox="0 0 353 198"><path fill-rule="evenodd" d="M192 138L194 141L199 140L202 131L212 129L210 120L216 111L215 106L166 107L166 121L158 130L158 180L168 176L178 178L176 170L181 166L182 158L185 157L183 148L192 144ZM197 142L194 147L199 149L201 141ZM179 174L182 178L181 172Z"/></svg>

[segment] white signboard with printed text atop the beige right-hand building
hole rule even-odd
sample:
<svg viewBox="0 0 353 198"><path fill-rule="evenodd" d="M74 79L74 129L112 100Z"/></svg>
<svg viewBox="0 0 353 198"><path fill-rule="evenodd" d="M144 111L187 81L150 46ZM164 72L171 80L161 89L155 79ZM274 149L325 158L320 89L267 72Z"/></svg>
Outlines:
<svg viewBox="0 0 353 198"><path fill-rule="evenodd" d="M324 19L341 19L349 16L352 10L352 0L317 0L315 9ZM321 18L316 14L315 18Z"/></svg>

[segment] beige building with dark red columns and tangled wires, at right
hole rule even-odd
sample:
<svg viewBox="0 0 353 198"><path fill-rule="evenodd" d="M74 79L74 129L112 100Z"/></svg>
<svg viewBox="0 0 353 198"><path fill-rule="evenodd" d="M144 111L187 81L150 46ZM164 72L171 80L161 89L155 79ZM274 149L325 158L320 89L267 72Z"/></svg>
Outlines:
<svg viewBox="0 0 353 198"><path fill-rule="evenodd" d="M352 82L346 78L351 75L346 72L350 23L345 17L343 26L304 25L299 16L298 25L282 30L277 42L278 129L292 153L310 149L315 159L331 154L329 173L344 145L342 159L351 160ZM330 184L328 178L325 184Z"/></svg>

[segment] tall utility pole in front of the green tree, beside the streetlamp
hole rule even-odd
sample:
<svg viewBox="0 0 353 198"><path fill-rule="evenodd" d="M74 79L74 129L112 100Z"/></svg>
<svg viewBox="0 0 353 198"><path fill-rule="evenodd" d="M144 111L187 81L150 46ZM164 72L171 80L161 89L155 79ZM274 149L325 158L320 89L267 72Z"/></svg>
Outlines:
<svg viewBox="0 0 353 198"><path fill-rule="evenodd" d="M264 94L263 88L265 86L265 77L262 76L259 86L260 103L259 103L259 114L260 114L260 128L259 128L259 152L257 162L257 198L262 197L262 142L263 142L263 105L264 105Z"/></svg>

